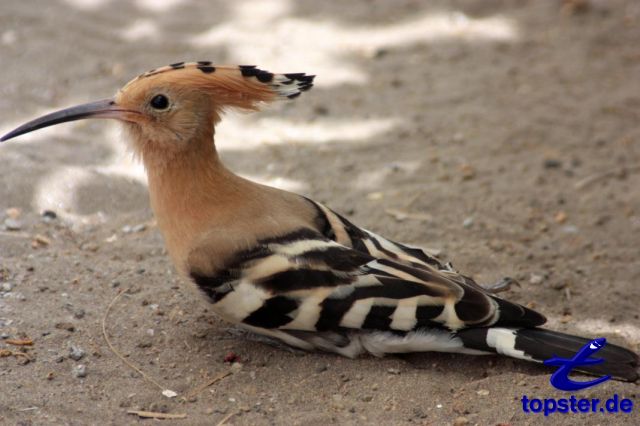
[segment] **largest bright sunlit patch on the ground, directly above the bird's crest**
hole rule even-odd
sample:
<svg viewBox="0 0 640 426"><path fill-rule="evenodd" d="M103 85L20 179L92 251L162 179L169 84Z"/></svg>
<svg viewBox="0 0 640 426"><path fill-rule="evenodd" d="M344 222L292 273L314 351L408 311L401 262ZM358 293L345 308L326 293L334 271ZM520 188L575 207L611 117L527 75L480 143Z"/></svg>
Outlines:
<svg viewBox="0 0 640 426"><path fill-rule="evenodd" d="M501 15L474 18L461 12L426 12L400 22L376 25L342 25L329 20L291 17L291 0L236 2L229 18L191 38L196 47L224 47L241 63L250 60L275 71L304 64L305 70L322 75L317 84L366 84L365 69L346 58L365 56L380 48L432 43L443 40L512 42L518 39L516 24ZM295 52L295 54L292 54Z"/></svg>

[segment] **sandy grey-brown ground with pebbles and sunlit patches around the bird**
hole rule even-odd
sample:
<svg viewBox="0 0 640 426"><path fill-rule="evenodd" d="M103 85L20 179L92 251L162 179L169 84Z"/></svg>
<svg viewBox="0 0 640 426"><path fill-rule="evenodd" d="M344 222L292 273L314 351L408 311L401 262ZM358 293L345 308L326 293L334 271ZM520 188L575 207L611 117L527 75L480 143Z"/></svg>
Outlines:
<svg viewBox="0 0 640 426"><path fill-rule="evenodd" d="M345 4L2 1L0 132L182 60L316 73L297 102L226 120L233 170L480 281L515 276L506 296L550 327L638 350L640 3ZM522 395L567 396L546 368L499 357L349 360L248 340L176 276L113 123L36 132L0 159L0 350L28 356L0 358L2 424L159 422L128 410L190 425L534 424ZM157 385L102 336L123 289L107 333ZM550 421L638 424L637 385L580 396L614 393L635 412Z"/></svg>

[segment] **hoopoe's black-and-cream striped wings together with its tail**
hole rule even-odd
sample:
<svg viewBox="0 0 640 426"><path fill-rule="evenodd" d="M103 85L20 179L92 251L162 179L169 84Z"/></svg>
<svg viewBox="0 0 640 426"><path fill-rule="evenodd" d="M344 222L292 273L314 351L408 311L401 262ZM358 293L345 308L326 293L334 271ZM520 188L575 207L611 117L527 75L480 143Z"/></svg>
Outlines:
<svg viewBox="0 0 640 426"><path fill-rule="evenodd" d="M216 276L192 271L215 311L251 331L347 357L498 353L542 362L589 339L538 328L539 313L503 300L426 252L358 228L321 204L313 228L263 239ZM638 356L607 345L589 374L638 379Z"/></svg>

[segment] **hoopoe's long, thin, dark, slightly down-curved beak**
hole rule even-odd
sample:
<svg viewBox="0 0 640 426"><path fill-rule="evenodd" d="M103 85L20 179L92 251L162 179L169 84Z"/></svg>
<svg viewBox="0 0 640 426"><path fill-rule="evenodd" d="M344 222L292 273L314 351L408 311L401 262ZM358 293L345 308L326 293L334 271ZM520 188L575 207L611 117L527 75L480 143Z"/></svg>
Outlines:
<svg viewBox="0 0 640 426"><path fill-rule="evenodd" d="M116 102L111 98L101 99L99 101L65 108L31 120L2 136L0 142L33 132L34 130L42 129L43 127L53 126L54 124L65 123L67 121L82 120L84 118L117 118L131 121L130 118L128 119L128 116L132 113L135 113L135 111L118 107Z"/></svg>

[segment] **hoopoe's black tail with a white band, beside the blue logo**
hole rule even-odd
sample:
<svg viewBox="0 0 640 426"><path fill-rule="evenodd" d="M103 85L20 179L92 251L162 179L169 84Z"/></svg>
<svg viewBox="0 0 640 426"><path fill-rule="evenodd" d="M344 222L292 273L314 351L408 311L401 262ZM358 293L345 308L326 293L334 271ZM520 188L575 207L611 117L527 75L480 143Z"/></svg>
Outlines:
<svg viewBox="0 0 640 426"><path fill-rule="evenodd" d="M544 362L555 356L572 358L591 341L584 337L542 328L470 328L460 330L456 335L466 348L535 362ZM638 354L629 349L607 344L592 357L603 358L604 362L577 366L574 370L597 376L610 374L618 380L629 382L634 382L640 377L640 359Z"/></svg>

